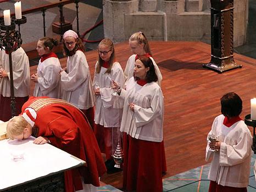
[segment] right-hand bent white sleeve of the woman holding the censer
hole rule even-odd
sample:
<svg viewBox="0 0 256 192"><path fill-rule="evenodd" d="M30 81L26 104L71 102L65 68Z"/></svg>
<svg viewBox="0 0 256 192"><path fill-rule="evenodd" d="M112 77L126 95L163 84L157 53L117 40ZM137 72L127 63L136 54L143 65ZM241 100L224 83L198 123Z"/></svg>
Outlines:
<svg viewBox="0 0 256 192"><path fill-rule="evenodd" d="M163 115L164 98L161 89L155 90L154 95L151 98L150 108L142 108L141 106L134 106L135 123L136 127L141 127L149 122L153 121L154 118Z"/></svg>

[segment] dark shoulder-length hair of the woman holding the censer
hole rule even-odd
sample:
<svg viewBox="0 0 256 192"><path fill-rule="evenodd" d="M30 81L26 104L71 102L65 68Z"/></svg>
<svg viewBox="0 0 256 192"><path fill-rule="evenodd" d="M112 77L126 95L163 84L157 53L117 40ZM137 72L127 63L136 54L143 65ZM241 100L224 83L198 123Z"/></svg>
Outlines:
<svg viewBox="0 0 256 192"><path fill-rule="evenodd" d="M158 81L157 74L155 74L155 67L151 58L141 56L138 58L138 60L140 60L143 63L144 67L146 68L149 67L149 70L147 71L146 78L145 78L146 82L151 83L153 81L154 82ZM138 77L135 77L134 75L133 77L135 78L135 80L139 80Z"/></svg>

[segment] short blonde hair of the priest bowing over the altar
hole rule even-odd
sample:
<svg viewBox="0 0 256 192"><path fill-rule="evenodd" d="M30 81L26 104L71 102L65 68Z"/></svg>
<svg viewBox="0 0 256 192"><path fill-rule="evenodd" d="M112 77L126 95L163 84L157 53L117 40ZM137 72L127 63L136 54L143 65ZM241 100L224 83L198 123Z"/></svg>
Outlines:
<svg viewBox="0 0 256 192"><path fill-rule="evenodd" d="M6 127L8 137L13 140L13 136L22 134L27 124L28 123L23 116L15 116L11 118Z"/></svg>

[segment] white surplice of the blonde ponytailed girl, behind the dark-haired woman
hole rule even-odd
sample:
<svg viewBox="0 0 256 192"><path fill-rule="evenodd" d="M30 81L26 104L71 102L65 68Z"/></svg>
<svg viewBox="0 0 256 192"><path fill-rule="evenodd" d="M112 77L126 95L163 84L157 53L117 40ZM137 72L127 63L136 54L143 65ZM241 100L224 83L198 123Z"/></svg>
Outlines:
<svg viewBox="0 0 256 192"><path fill-rule="evenodd" d="M135 58L136 58L136 54L133 54L127 60L127 63L125 66L125 71L124 71L125 81L126 81L125 84L127 84L127 81L130 80L131 77L133 77ZM157 66L157 63L155 63L154 59L152 57L150 57L150 58L153 61L154 68L155 68L155 74L157 74L157 77L158 77L157 83L159 84L159 86L161 86L161 82L163 79L161 71L159 70L159 67Z"/></svg>

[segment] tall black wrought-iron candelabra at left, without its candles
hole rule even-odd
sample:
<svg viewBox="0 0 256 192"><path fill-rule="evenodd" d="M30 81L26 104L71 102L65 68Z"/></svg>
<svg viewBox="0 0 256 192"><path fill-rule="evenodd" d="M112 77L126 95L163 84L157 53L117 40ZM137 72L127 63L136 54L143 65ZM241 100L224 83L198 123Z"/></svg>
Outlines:
<svg viewBox="0 0 256 192"><path fill-rule="evenodd" d="M10 108L12 110L12 117L16 115L16 104L14 95L14 83L13 83L13 62L12 52L15 52L20 48L22 39L20 35L20 24L26 22L26 17L22 16L21 19L15 19L12 17L10 25L4 25L3 18L0 19L0 49L5 50L9 55L9 72L10 72ZM19 26L19 30L16 31L16 24Z"/></svg>

